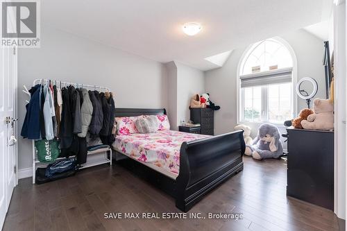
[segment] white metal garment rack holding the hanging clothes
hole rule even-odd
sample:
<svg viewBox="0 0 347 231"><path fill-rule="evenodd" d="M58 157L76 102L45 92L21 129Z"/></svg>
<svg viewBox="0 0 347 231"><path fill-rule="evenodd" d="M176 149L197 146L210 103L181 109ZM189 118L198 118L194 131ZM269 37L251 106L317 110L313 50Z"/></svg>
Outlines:
<svg viewBox="0 0 347 231"><path fill-rule="evenodd" d="M83 87L85 89L91 89L91 90L105 90L105 92L110 92L110 88L108 87L100 87L100 86L96 86L96 85L85 85L85 84L81 84L81 83L69 83L69 82L62 82L59 80L49 80L49 79L35 79L33 82L33 86L37 85L37 84L42 84L44 85L45 83L51 83L53 85L57 85L59 87L67 87L69 85L73 85L74 87ZM102 161L98 161L98 162L93 162L93 163L85 163L83 164L83 166L81 166L79 169L85 169L91 166L96 166L99 164L106 164L106 163L110 163L110 166L112 166L112 149L110 148L110 146L108 148L101 148L100 150L96 150L96 151L87 151L87 155L94 155L94 154L99 154L99 153L103 153L104 159ZM108 153L110 154L110 158L108 158ZM71 155L70 157L74 157L74 155ZM58 157L56 160L63 160L65 159L65 157ZM54 161L56 161L54 160ZM35 184L35 172L37 167L39 166L47 166L50 163L42 163L40 161L37 160L37 151L35 148L35 141L33 140L33 184Z"/></svg>

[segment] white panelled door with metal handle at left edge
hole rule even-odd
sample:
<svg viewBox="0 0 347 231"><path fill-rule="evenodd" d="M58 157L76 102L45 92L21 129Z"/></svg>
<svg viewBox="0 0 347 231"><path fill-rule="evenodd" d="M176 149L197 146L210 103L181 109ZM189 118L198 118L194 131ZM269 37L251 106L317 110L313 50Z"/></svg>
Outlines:
<svg viewBox="0 0 347 231"><path fill-rule="evenodd" d="M17 51L0 48L0 228L17 185ZM12 139L11 139L12 138Z"/></svg>

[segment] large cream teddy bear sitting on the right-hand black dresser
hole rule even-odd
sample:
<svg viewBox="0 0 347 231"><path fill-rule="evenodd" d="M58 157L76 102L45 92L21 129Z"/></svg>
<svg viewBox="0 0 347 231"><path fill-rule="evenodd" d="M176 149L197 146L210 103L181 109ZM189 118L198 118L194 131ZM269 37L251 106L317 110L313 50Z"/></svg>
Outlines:
<svg viewBox="0 0 347 231"><path fill-rule="evenodd" d="M316 98L313 101L313 114L307 120L301 121L305 129L332 130L334 129L334 105L329 99Z"/></svg>

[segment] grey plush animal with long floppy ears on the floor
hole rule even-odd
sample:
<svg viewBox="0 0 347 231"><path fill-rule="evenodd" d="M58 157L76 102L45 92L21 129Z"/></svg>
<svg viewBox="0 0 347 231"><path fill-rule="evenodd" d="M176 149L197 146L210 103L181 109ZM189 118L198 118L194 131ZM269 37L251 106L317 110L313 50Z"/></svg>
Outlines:
<svg viewBox="0 0 347 231"><path fill-rule="evenodd" d="M270 123L263 123L258 130L252 146L246 146L245 155L251 155L256 160L278 158L283 154L280 141L280 131Z"/></svg>

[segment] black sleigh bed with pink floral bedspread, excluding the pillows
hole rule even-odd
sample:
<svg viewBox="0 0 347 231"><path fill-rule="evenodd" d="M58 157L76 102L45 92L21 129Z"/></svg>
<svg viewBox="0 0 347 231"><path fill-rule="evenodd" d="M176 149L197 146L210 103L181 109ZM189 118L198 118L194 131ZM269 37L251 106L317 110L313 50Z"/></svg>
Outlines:
<svg viewBox="0 0 347 231"><path fill-rule="evenodd" d="M116 108L116 117L166 114L164 109ZM209 191L243 170L243 130L208 136L173 130L119 135L118 164L151 182L187 212ZM146 155L144 155L146 150Z"/></svg>

